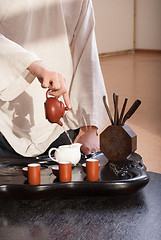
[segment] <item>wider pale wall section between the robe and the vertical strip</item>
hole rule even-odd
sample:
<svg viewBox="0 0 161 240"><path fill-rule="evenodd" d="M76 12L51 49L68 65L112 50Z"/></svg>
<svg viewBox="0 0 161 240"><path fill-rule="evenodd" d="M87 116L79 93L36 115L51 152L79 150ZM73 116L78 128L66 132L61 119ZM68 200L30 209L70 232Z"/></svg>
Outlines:
<svg viewBox="0 0 161 240"><path fill-rule="evenodd" d="M93 0L99 53L133 49L133 0Z"/></svg>

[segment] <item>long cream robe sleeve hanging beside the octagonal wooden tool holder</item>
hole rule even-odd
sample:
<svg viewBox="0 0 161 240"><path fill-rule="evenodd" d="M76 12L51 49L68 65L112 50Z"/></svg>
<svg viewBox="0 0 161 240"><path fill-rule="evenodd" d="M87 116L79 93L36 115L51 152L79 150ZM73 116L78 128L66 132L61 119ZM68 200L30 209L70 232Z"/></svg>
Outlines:
<svg viewBox="0 0 161 240"><path fill-rule="evenodd" d="M68 19L70 25L67 26L70 33L73 28L72 19L77 12L78 22L73 38L69 38L74 74L70 87L72 111L67 114L67 120L70 128L93 125L98 128L99 133L108 120L103 104L106 89L96 45L94 10L92 1L78 2L79 7L74 5L77 11L73 7L71 22Z"/></svg>

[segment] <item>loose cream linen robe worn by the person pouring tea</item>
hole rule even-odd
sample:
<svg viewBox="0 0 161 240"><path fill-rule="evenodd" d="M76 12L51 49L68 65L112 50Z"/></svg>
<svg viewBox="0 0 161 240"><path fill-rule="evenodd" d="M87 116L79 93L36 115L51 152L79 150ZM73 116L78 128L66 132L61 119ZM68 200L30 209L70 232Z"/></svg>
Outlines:
<svg viewBox="0 0 161 240"><path fill-rule="evenodd" d="M64 131L45 118L46 89L26 70L36 60L67 79L65 129L107 123L94 24L90 0L0 0L0 132L19 154L43 153Z"/></svg>

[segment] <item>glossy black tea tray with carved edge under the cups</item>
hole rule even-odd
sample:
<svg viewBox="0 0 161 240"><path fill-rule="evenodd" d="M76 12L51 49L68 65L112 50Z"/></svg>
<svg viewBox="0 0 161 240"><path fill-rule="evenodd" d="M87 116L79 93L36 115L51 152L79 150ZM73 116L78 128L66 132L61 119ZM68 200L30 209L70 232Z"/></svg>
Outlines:
<svg viewBox="0 0 161 240"><path fill-rule="evenodd" d="M86 158L82 155L77 166L72 167L72 181L61 183L52 173L55 164L48 157L40 158L0 158L0 198L41 199L72 196L123 195L138 191L149 182L146 167L139 154L133 153L126 161L110 162L103 153L88 157L100 162L99 180L89 182L82 169ZM28 163L41 164L41 184L29 185L22 173Z"/></svg>

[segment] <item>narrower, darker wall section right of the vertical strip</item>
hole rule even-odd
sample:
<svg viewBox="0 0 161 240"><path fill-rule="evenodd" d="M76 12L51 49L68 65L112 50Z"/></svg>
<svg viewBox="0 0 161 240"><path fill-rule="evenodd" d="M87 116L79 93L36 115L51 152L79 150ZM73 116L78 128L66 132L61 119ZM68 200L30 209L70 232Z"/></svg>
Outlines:
<svg viewBox="0 0 161 240"><path fill-rule="evenodd" d="M136 0L136 48L161 50L161 0Z"/></svg>

